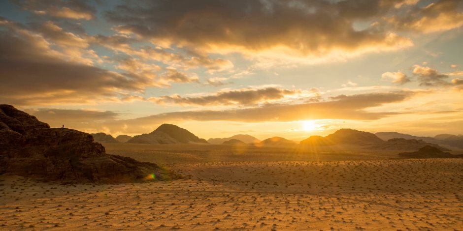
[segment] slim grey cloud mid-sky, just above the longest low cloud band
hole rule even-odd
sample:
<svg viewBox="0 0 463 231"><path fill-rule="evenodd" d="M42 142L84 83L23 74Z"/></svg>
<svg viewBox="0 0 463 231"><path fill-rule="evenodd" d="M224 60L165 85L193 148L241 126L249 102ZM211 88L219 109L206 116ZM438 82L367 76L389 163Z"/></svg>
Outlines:
<svg viewBox="0 0 463 231"><path fill-rule="evenodd" d="M238 89L219 91L212 95L182 97L170 95L149 98L149 101L157 104L179 104L179 105L252 105L264 103L271 100L283 99L287 95L300 93L300 90L280 89L276 87L265 87L261 89Z"/></svg>

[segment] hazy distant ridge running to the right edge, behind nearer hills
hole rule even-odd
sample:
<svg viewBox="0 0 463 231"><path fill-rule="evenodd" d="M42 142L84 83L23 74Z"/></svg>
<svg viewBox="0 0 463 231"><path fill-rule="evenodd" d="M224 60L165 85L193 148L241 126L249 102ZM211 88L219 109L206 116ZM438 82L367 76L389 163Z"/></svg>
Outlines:
<svg viewBox="0 0 463 231"><path fill-rule="evenodd" d="M393 139L393 138L405 138L405 139L423 140L430 144L449 145L453 147L463 148L463 137L450 135L450 134L440 134L435 137L420 137L420 136L402 134L398 132L378 132L376 133L376 136L386 141Z"/></svg>

